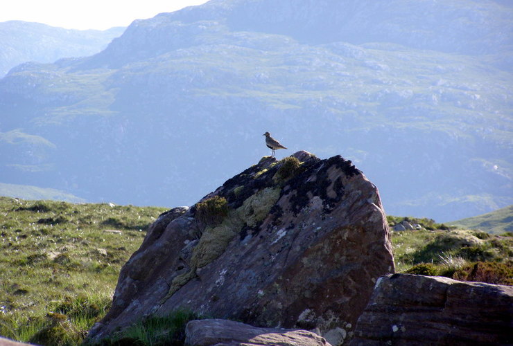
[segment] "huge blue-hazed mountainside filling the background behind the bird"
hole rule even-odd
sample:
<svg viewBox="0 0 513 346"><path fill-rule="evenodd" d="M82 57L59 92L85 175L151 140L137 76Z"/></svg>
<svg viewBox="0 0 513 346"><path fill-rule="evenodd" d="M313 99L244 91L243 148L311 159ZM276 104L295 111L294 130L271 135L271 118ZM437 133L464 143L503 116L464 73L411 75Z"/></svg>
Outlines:
<svg viewBox="0 0 513 346"><path fill-rule="evenodd" d="M342 154L385 210L448 221L513 203L513 6L212 0L104 51L0 80L0 181L191 205L270 154Z"/></svg>

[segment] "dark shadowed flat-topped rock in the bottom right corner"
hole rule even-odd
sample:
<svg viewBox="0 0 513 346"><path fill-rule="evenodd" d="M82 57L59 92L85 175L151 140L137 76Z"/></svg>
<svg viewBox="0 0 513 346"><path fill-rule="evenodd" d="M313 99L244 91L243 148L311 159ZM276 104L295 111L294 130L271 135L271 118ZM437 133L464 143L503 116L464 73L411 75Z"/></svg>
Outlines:
<svg viewBox="0 0 513 346"><path fill-rule="evenodd" d="M511 345L512 317L512 286L386 275L350 345Z"/></svg>

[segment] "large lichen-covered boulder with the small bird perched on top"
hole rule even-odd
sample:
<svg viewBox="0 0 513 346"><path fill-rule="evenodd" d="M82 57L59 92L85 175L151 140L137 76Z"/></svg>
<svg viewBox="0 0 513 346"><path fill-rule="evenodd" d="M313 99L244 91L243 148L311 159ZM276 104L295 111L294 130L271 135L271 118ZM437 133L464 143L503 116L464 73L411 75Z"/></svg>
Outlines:
<svg viewBox="0 0 513 346"><path fill-rule="evenodd" d="M227 208L205 216L201 206L222 201L214 197ZM376 280L394 271L378 190L340 156L266 157L202 202L150 227L90 340L191 309L257 327L318 329L342 343Z"/></svg>

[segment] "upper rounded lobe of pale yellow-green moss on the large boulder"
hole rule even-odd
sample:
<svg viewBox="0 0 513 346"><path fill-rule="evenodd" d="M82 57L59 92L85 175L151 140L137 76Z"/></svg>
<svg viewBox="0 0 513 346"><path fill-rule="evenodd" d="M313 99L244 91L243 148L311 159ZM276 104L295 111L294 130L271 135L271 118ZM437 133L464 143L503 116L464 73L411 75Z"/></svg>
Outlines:
<svg viewBox="0 0 513 346"><path fill-rule="evenodd" d="M251 197L248 197L243 205L237 208L238 217L247 224L254 227L265 219L272 206L279 198L280 188L265 188Z"/></svg>

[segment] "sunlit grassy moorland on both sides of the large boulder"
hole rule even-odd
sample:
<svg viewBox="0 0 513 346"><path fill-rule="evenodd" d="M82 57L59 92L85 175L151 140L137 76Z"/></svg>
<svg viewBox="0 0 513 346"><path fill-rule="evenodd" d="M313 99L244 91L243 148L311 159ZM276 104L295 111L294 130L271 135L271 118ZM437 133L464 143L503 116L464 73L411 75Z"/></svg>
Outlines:
<svg viewBox="0 0 513 346"><path fill-rule="evenodd" d="M121 266L164 210L0 197L0 335L79 345L109 309ZM445 227L429 219L410 221ZM104 232L113 229L123 234ZM392 232L392 243L397 271L421 262L433 263L440 273L479 260L512 264L513 237L424 229Z"/></svg>

